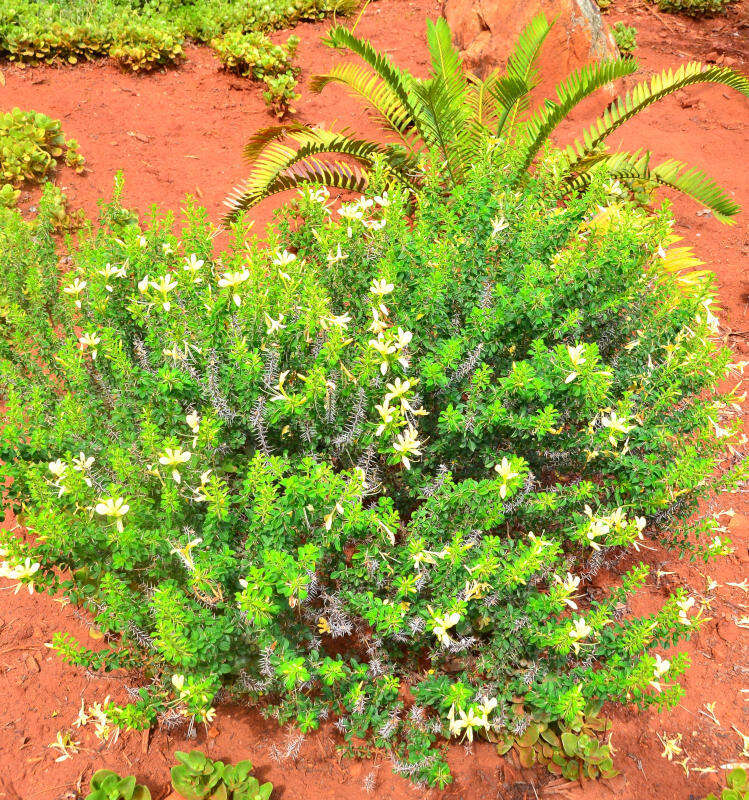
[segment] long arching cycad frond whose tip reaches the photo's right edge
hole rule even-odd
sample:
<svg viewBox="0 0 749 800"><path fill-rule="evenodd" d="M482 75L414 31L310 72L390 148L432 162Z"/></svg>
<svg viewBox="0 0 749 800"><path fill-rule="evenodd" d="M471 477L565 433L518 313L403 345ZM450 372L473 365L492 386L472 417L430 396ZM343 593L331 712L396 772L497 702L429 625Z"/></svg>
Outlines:
<svg viewBox="0 0 749 800"><path fill-rule="evenodd" d="M679 89L697 83L718 83L749 97L749 78L728 67L703 68L701 63L693 61L683 64L675 72L670 69L664 70L649 81L637 84L624 97L617 98L603 116L583 133L582 142L578 140L574 143L574 147L568 148L570 163L574 165L595 151L617 128L643 109Z"/></svg>

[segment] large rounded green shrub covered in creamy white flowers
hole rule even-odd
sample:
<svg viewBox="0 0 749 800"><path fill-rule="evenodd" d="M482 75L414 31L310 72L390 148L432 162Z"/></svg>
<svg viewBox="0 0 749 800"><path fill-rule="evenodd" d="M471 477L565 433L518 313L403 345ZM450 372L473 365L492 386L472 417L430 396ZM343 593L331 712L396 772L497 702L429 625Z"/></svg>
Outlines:
<svg viewBox="0 0 749 800"><path fill-rule="evenodd" d="M189 203L178 234L115 198L64 274L42 223L0 233L3 571L89 608L99 664L145 658L111 724L208 722L223 689L445 785L440 737L542 720L608 770L586 710L679 699L654 651L701 609L627 599L646 541L729 548L698 508L746 477L710 280L667 209L603 176L559 203L554 154L517 190L493 153L412 214L376 175L312 190L220 256Z"/></svg>

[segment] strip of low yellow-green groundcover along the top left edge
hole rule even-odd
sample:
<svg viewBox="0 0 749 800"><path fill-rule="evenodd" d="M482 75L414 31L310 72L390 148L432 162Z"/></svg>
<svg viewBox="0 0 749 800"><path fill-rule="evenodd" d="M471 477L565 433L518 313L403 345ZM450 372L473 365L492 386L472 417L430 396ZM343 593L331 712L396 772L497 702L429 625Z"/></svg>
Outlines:
<svg viewBox="0 0 749 800"><path fill-rule="evenodd" d="M108 57L124 69L179 63L186 39L211 43L228 69L266 84L282 115L296 99L295 44L269 31L305 19L346 14L355 0L7 0L0 6L0 57L76 64Z"/></svg>

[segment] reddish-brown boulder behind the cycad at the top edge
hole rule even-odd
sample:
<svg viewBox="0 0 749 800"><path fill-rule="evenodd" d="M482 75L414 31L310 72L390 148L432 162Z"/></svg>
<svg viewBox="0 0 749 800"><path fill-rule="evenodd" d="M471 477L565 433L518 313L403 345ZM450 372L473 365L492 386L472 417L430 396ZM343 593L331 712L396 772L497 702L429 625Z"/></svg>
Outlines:
<svg viewBox="0 0 749 800"><path fill-rule="evenodd" d="M543 88L590 61L618 55L594 0L443 0L442 6L466 65L481 77L507 63L522 29L542 11L556 18L538 62Z"/></svg>

